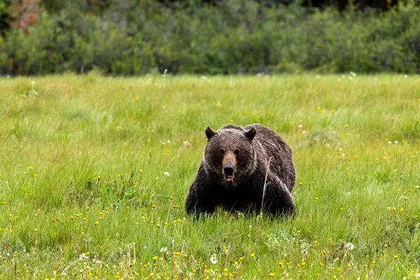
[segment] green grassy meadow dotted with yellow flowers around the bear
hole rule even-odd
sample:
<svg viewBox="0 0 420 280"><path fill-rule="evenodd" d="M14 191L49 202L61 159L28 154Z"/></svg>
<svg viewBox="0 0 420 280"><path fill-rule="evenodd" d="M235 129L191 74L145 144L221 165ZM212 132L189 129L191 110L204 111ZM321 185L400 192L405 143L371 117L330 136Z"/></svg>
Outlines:
<svg viewBox="0 0 420 280"><path fill-rule="evenodd" d="M420 279L418 76L0 78L0 279ZM183 203L204 127L293 149L295 218Z"/></svg>

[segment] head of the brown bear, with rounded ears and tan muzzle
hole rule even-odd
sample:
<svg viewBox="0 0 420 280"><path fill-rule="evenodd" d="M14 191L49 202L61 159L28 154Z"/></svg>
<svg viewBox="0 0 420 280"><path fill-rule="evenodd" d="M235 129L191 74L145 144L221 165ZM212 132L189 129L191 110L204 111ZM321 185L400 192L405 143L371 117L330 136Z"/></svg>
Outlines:
<svg viewBox="0 0 420 280"><path fill-rule="evenodd" d="M257 130L232 125L217 132L206 127L205 132L208 142L203 155L204 168L221 186L235 188L255 170L253 139Z"/></svg>

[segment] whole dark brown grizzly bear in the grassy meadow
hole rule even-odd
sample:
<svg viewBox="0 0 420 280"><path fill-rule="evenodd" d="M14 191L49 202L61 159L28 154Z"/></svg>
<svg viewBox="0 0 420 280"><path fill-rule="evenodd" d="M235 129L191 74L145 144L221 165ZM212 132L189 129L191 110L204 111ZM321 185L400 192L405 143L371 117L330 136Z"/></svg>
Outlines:
<svg viewBox="0 0 420 280"><path fill-rule="evenodd" d="M207 145L186 197L188 214L210 214L216 207L295 214L293 155L276 132L258 124L205 132Z"/></svg>

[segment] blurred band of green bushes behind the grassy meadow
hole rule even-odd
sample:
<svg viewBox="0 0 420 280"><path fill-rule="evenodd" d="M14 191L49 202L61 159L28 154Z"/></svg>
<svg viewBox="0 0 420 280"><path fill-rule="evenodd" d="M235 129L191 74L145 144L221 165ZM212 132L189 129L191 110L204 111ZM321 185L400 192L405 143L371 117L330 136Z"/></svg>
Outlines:
<svg viewBox="0 0 420 280"><path fill-rule="evenodd" d="M387 2L0 0L0 73L419 73L420 8Z"/></svg>

